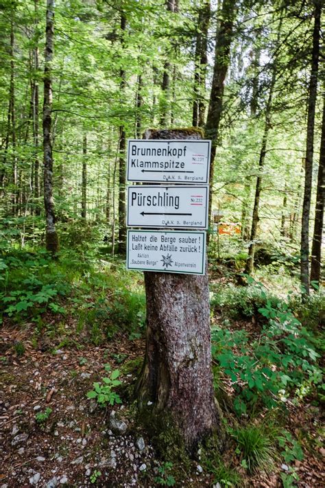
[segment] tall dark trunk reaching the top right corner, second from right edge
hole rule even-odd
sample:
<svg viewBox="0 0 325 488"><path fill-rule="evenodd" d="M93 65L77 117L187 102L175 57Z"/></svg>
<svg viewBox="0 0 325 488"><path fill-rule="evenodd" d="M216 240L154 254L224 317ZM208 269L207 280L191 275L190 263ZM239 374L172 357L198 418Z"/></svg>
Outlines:
<svg viewBox="0 0 325 488"><path fill-rule="evenodd" d="M311 210L311 186L313 181L313 144L315 126L315 106L317 98L318 62L320 57L320 16L322 0L314 0L315 23L313 28L313 51L311 55L311 78L306 137L306 165L304 170L304 200L302 202L300 281L304 295L309 295L309 214Z"/></svg>

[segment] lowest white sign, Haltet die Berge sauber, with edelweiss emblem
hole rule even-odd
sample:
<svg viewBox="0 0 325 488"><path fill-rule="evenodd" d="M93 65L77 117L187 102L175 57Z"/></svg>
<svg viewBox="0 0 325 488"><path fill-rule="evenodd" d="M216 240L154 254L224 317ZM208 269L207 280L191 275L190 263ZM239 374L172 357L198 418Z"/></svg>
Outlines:
<svg viewBox="0 0 325 488"><path fill-rule="evenodd" d="M205 232L128 231L128 270L205 274Z"/></svg>

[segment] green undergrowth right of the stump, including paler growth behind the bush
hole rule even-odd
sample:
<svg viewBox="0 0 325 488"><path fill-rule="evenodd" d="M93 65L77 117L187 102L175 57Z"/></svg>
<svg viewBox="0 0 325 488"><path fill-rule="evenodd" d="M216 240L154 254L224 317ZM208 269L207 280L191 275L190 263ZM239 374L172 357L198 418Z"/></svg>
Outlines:
<svg viewBox="0 0 325 488"><path fill-rule="evenodd" d="M217 395L222 377L228 377L237 415L263 407L285 408L289 399L298 404L305 397L317 402L324 396L320 353L315 347L323 342L298 320L289 299L274 297L261 283L239 289L229 286L212 297L213 310L223 303L232 317L261 317L252 332L233 329L227 318L212 330Z"/></svg>

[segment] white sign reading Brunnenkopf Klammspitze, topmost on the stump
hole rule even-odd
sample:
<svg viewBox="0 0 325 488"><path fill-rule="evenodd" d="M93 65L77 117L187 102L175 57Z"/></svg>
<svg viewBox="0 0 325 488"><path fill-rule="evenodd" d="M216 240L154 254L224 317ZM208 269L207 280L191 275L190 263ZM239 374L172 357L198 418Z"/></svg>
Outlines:
<svg viewBox="0 0 325 488"><path fill-rule="evenodd" d="M129 139L128 181L207 184L211 141Z"/></svg>

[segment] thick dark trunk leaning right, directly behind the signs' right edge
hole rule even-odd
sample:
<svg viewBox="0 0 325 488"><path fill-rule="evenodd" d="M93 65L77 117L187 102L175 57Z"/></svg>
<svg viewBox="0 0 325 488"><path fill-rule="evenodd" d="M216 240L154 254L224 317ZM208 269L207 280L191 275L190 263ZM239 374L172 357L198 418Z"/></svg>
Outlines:
<svg viewBox="0 0 325 488"><path fill-rule="evenodd" d="M224 97L224 81L230 63L230 45L232 41L232 29L234 25L234 14L236 12L235 0L224 0L221 8L221 21L217 30L215 43L215 65L213 68L213 81L208 106L208 117L206 119L206 139L212 140L210 158L210 194L209 194L209 225L211 221L212 198L213 198L213 174L215 152L219 138L219 124L222 112L222 99Z"/></svg>

